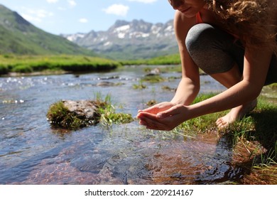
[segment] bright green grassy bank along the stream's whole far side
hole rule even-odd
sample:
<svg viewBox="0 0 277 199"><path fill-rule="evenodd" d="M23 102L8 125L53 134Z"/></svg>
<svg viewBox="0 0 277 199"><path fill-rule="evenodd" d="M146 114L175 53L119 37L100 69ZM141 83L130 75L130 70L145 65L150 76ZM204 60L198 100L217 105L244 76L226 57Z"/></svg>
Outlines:
<svg viewBox="0 0 277 199"><path fill-rule="evenodd" d="M178 65L180 55L147 60L109 60L85 55L0 55L0 75L15 73L90 72L112 70L121 65ZM176 70L176 68L174 69ZM179 68L180 70L180 68Z"/></svg>

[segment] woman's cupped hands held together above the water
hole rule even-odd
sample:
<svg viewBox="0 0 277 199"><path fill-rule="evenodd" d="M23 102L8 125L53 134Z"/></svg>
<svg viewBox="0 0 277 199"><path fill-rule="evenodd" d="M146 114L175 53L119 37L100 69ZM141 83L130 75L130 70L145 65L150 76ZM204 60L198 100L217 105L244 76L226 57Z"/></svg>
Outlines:
<svg viewBox="0 0 277 199"><path fill-rule="evenodd" d="M169 104L168 104L169 103ZM185 115L188 107L183 105L175 105L170 102L157 104L149 109L139 111L137 118L140 119L139 124L146 126L147 129L170 131L182 122L185 122ZM164 109L168 107L168 109ZM161 111L164 109L164 111Z"/></svg>

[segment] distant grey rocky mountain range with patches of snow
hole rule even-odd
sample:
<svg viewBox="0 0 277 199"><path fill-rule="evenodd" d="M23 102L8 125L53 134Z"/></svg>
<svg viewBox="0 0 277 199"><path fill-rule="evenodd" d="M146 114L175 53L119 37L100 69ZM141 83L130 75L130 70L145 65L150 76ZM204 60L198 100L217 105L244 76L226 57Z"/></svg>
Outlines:
<svg viewBox="0 0 277 199"><path fill-rule="evenodd" d="M173 20L147 23L143 20L116 21L107 31L62 34L69 41L116 60L153 58L178 53Z"/></svg>

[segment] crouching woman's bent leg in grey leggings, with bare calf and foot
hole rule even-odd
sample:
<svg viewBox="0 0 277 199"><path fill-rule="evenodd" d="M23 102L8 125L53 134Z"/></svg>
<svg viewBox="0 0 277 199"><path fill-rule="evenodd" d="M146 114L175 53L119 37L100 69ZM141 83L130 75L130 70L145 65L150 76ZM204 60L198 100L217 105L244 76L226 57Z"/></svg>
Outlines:
<svg viewBox="0 0 277 199"><path fill-rule="evenodd" d="M239 42L234 43L234 37L229 33L210 24L199 23L190 28L185 45L195 64L225 87L232 87L241 81L239 66L243 68L244 65L244 48ZM234 65L235 62L237 64ZM255 106L256 99L234 107L229 114L217 119L217 126L227 127Z"/></svg>

